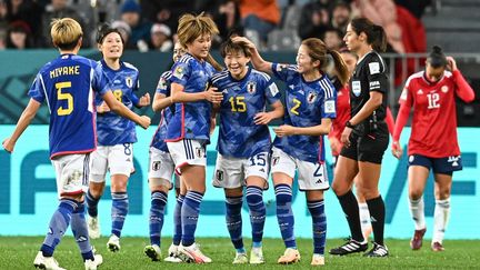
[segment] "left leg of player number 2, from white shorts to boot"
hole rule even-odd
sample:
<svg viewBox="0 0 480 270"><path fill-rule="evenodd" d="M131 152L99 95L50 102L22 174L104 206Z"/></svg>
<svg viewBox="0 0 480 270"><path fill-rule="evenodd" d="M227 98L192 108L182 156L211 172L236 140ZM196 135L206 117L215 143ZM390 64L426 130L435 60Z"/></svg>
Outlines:
<svg viewBox="0 0 480 270"><path fill-rule="evenodd" d="M294 217L292 211L292 183L296 172L296 161L278 148L272 149L272 179L277 201L277 221L286 246L286 251L278 263L294 263L300 260L297 241L293 233Z"/></svg>

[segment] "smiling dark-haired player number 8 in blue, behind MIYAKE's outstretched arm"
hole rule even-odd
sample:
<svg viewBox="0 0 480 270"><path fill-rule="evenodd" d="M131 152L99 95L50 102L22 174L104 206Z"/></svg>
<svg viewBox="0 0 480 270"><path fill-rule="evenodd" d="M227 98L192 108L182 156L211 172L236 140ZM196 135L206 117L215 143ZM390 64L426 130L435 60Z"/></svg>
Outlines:
<svg viewBox="0 0 480 270"><path fill-rule="evenodd" d="M123 40L120 31L102 26L97 43L103 59L99 62L102 71L102 88L110 90L116 99L129 109L150 104L150 96L138 98L139 71L136 67L120 60L123 52ZM107 248L120 250L120 236L128 213L129 200L127 183L133 168L133 143L137 142L136 124L110 111L100 94L96 96L97 138L99 147L91 154L90 183L87 192L88 226L90 238L100 237L98 202L106 186L106 174L111 179L111 236Z"/></svg>

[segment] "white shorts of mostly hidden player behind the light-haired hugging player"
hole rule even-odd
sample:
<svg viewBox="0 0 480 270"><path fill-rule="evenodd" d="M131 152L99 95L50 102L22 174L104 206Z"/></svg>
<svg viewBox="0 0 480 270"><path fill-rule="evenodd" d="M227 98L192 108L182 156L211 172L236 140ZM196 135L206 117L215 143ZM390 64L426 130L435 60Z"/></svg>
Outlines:
<svg viewBox="0 0 480 270"><path fill-rule="evenodd" d="M166 186L172 189L172 174L174 170L173 160L169 152L163 152L154 147L150 148L150 161L149 161L149 186L152 187ZM180 188L179 177L174 178L176 187Z"/></svg>

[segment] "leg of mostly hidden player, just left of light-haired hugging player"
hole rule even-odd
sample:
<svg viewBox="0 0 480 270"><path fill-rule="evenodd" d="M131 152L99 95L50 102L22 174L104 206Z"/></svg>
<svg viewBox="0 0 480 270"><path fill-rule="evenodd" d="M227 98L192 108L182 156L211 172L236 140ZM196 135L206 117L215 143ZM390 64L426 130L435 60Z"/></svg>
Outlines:
<svg viewBox="0 0 480 270"><path fill-rule="evenodd" d="M171 179L173 168L174 166L170 158L170 153L160 151L156 148L150 148L150 244L144 247L143 251L152 261L161 260L161 230L163 227L168 191L172 188L172 184L168 179Z"/></svg>

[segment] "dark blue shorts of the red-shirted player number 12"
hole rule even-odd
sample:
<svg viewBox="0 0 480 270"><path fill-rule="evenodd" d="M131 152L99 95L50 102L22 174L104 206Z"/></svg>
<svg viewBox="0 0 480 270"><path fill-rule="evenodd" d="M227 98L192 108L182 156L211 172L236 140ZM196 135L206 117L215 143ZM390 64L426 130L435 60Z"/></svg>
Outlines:
<svg viewBox="0 0 480 270"><path fill-rule="evenodd" d="M463 169L461 162L461 156L451 156L447 158L429 158L421 154L409 156L409 166L422 166L433 173L449 174L451 176L453 171L460 171Z"/></svg>

